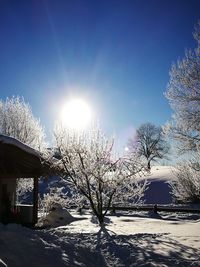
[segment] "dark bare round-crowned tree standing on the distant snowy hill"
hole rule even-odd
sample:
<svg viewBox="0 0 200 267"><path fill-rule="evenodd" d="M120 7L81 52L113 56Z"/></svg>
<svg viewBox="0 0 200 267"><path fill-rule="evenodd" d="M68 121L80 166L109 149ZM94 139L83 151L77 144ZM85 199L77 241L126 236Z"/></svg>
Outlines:
<svg viewBox="0 0 200 267"><path fill-rule="evenodd" d="M152 161L165 158L169 151L161 127L149 122L136 130L136 136L129 140L128 146L131 151L137 151L140 157L145 158L148 169L151 169Z"/></svg>

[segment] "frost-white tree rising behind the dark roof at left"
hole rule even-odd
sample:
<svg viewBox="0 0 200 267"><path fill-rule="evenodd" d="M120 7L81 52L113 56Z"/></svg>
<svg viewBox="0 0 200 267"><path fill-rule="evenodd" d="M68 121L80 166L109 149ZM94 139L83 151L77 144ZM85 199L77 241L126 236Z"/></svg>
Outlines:
<svg viewBox="0 0 200 267"><path fill-rule="evenodd" d="M20 97L0 100L0 134L14 137L39 151L45 148L44 129L33 116L30 105ZM32 188L32 179L18 179L18 196Z"/></svg>

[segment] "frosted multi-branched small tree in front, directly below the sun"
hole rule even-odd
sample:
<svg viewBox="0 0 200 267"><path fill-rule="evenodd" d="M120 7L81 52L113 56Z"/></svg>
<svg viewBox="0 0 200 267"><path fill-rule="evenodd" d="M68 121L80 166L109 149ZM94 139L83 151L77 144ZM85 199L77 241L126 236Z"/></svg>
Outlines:
<svg viewBox="0 0 200 267"><path fill-rule="evenodd" d="M100 130L77 133L59 128L55 141L60 174L87 199L100 224L112 205L141 201L146 181L139 174L144 167L137 157L116 158L114 141Z"/></svg>

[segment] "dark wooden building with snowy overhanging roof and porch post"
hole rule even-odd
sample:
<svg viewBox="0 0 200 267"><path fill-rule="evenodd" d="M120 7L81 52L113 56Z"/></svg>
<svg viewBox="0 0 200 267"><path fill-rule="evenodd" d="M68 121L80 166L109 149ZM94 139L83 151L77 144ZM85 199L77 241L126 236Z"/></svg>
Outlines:
<svg viewBox="0 0 200 267"><path fill-rule="evenodd" d="M49 175L50 167L38 151L15 138L0 135L0 222L28 222L33 225L37 222L38 179ZM33 205L29 208L16 206L18 178L34 179ZM27 212L31 212L29 221L25 218Z"/></svg>

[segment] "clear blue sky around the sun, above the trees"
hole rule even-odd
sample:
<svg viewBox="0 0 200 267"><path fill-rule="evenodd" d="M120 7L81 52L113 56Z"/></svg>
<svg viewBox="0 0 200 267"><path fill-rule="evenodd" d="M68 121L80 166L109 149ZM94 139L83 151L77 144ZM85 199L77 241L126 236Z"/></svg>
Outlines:
<svg viewBox="0 0 200 267"><path fill-rule="evenodd" d="M48 134L83 97L123 143L170 119L169 69L199 18L199 0L0 0L0 98L24 96Z"/></svg>

